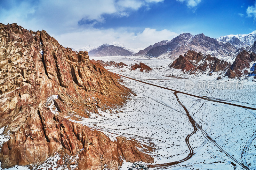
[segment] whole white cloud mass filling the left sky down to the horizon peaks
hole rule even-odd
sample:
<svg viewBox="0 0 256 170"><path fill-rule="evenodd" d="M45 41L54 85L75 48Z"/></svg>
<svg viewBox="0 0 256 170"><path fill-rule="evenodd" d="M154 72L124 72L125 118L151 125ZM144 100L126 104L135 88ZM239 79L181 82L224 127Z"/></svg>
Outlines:
<svg viewBox="0 0 256 170"><path fill-rule="evenodd" d="M105 14L116 17L129 16L132 11L164 0L10 0L9 8L0 7L0 21L17 23L33 31L46 30L66 47L102 45L117 41L130 48L147 47L155 42L170 40L177 34L168 30L146 28L95 29L95 23L104 22ZM10 8L11 7L11 8ZM79 25L78 22L86 23ZM132 30L133 29L133 30Z"/></svg>

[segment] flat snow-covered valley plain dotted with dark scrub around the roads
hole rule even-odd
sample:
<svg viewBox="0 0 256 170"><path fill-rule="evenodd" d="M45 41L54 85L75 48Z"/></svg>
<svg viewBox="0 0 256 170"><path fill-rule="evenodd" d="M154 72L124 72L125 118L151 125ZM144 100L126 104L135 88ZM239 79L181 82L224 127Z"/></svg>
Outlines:
<svg viewBox="0 0 256 170"><path fill-rule="evenodd" d="M90 59L123 62L128 66L124 68L106 67L106 69L112 69L109 71L130 78L256 108L256 96L254 95L256 84L252 81L252 77L238 82L222 77L222 86L220 86L220 80L216 80L219 76L217 73L213 76L198 77L182 75L177 70L175 72L167 68L173 62L168 58L108 56ZM139 70L131 71L129 66L138 62L145 63L153 70L149 73ZM125 86L137 94L124 106L117 108L124 113L117 113L113 116L101 113L103 117L93 118L93 121L84 119L82 122L87 125L91 124L91 126L97 124L97 128L102 128L102 131L111 130L112 134L134 138L142 143L154 143L156 149L149 154L154 157L155 164L185 158L189 153L185 138L193 131L193 127L173 92L127 78L121 79ZM189 90L185 88L188 80L195 84L195 87ZM216 87L213 85L207 87L210 84L209 81ZM205 87L197 87L197 84L202 82ZM189 138L194 151L193 156L185 162L163 168L244 169L234 161L235 159L248 169L256 169L255 110L202 100L180 93L177 96L193 119L221 149L232 156L232 159L199 130ZM127 166L126 163L124 166Z"/></svg>

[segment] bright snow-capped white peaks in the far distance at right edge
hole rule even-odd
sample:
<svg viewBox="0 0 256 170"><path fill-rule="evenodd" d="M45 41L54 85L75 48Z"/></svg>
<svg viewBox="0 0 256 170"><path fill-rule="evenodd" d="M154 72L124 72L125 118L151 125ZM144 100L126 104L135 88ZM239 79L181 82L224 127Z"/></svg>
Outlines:
<svg viewBox="0 0 256 170"><path fill-rule="evenodd" d="M256 41L256 30L249 34L237 34L237 35L226 35L220 36L217 41L227 43L229 42L236 48L250 46Z"/></svg>

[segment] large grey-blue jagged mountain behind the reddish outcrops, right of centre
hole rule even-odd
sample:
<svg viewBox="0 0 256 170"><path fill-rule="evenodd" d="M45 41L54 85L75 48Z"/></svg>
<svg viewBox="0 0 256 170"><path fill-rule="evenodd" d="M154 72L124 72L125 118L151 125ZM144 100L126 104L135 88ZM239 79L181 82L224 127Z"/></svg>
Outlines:
<svg viewBox="0 0 256 170"><path fill-rule="evenodd" d="M235 54L237 48L230 43L219 42L214 38L207 37L203 33L192 35L182 33L171 41L160 41L153 46L136 53L136 56L147 57L169 57L176 59L179 55L184 55L188 50L200 52L203 55L211 54L217 58L227 57Z"/></svg>

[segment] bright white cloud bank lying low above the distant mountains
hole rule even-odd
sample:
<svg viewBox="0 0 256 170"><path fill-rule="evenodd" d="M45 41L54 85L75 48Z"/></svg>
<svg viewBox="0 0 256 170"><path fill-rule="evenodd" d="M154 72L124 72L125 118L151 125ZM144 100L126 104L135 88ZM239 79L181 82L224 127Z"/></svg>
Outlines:
<svg viewBox="0 0 256 170"><path fill-rule="evenodd" d="M100 46L112 41L120 42L128 48L146 48L162 40L171 40L178 34L169 30L157 31L145 28L143 32L135 33L129 28L95 29L89 28L83 31L54 35L53 37L65 47L81 48L85 45Z"/></svg>

